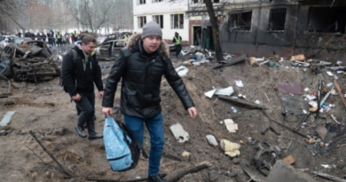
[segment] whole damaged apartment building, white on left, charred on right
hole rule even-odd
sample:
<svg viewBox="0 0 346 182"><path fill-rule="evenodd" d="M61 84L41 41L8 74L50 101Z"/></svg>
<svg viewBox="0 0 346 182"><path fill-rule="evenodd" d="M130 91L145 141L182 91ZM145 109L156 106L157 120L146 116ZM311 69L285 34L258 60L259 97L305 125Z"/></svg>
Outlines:
<svg viewBox="0 0 346 182"><path fill-rule="evenodd" d="M213 50L205 0L133 0L135 31L155 20L168 42L175 32L184 44ZM344 0L212 0L222 50L252 56L342 59L346 51Z"/></svg>

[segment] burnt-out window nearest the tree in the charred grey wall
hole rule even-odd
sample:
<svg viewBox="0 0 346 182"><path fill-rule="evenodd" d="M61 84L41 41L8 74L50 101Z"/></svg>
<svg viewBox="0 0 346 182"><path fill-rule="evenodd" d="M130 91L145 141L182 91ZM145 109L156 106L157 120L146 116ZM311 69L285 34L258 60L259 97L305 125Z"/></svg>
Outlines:
<svg viewBox="0 0 346 182"><path fill-rule="evenodd" d="M229 17L231 30L251 30L252 11L230 12Z"/></svg>

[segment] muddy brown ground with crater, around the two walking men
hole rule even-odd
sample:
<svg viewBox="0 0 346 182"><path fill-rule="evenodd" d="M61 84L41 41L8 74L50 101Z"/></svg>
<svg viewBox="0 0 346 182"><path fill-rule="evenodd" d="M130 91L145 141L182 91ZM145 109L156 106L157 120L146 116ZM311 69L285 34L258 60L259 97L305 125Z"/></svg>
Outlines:
<svg viewBox="0 0 346 182"><path fill-rule="evenodd" d="M183 65L182 60L173 59L173 62L175 67ZM113 62L100 62L100 65L106 81ZM316 181L328 180L315 176L311 171L345 178L346 115L338 91L335 89L335 93L326 99L326 106L330 107L317 118L316 114L312 113L306 117L295 112L285 112L280 101L284 96L292 97L295 102L291 107L301 107L299 103L306 103L304 95L317 93L319 81L324 81L325 84L334 83L334 76L327 75L325 69L316 75L309 67L291 67L289 60L283 60L278 64L279 67L252 67L248 60L230 67L213 69L216 65L216 62L209 62L187 67L189 72L183 79L198 111L194 120L190 119L167 81L162 80L161 106L166 138L161 160L162 174L207 161L212 164L211 167L187 174L179 181L251 181L245 167L261 175L256 170L254 161L257 149L249 142L256 139L271 146L278 146L282 153L280 158L294 156L295 163L292 166L295 170L311 175ZM344 91L344 75L337 76L337 81ZM237 86L236 81L242 81L244 87ZM283 94L279 91L278 83L300 83L301 93ZM249 103L258 100L260 106L266 108L265 111L263 108L246 107L217 96L209 99L204 94L213 90L213 87L219 89L229 86L234 90L232 96L245 95L246 99L243 100ZM309 91L304 91L306 88L309 88ZM119 99L120 92L117 92L114 115L122 120ZM0 136L0 181L87 181L90 178L126 181L146 178L148 161L144 158L141 158L135 170L114 172L106 161L103 140L88 140L75 133L75 104L71 103L67 93L59 86L59 78L36 84L12 82L12 95L0 99L0 108L1 117L8 111L16 112L11 123L0 128L0 131L9 131ZM96 111L96 128L100 132L103 130L104 116L100 112L99 99L96 102ZM237 123L238 131L229 132L223 122L225 119L232 119ZM169 127L176 123L180 123L189 133L190 139L187 142L178 143L170 131ZM72 178L67 178L67 175L59 170L57 162L43 151L29 131L35 133L35 137L61 166L72 174ZM232 158L224 154L220 145L212 146L208 143L207 135L215 136L218 142L227 139L240 144L240 155ZM310 141L307 141L308 137L311 137ZM149 151L147 131L145 149ZM191 156L183 157L185 151ZM270 162L272 166L275 160L270 159Z"/></svg>

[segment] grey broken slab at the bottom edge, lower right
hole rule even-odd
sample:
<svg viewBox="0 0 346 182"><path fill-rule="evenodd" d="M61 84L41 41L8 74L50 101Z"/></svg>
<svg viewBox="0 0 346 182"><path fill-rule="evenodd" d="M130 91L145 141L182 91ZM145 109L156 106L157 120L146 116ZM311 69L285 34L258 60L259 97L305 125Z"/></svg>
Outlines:
<svg viewBox="0 0 346 182"><path fill-rule="evenodd" d="M310 175L295 170L294 167L288 165L282 160L278 160L272 167L271 172L265 179L265 182L278 182L282 181L282 179L285 179L285 182L316 182L316 180Z"/></svg>

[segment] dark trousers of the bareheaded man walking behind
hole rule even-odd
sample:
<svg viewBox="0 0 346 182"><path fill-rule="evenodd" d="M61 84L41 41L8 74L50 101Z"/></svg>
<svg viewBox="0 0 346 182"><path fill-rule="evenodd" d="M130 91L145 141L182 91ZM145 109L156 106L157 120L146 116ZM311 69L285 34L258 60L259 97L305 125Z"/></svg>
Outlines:
<svg viewBox="0 0 346 182"><path fill-rule="evenodd" d="M77 112L79 113L78 126L84 129L87 125L88 131L95 131L95 93L79 93L81 99L75 101Z"/></svg>

